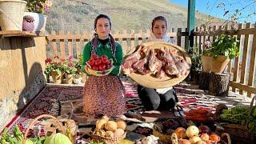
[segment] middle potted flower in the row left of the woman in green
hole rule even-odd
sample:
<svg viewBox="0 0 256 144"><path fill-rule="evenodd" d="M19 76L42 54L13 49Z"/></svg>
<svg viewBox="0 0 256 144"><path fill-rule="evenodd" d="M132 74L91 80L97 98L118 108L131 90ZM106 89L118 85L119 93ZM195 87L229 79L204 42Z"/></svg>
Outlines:
<svg viewBox="0 0 256 144"><path fill-rule="evenodd" d="M67 84L71 84L73 82L73 74L77 71L72 56L65 60L63 64L63 69L65 74L65 82Z"/></svg>

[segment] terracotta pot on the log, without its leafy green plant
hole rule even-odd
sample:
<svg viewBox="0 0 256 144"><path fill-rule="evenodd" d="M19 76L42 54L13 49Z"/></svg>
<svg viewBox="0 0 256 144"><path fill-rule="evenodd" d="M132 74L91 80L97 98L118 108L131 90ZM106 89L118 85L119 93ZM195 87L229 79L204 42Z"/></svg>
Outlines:
<svg viewBox="0 0 256 144"><path fill-rule="evenodd" d="M211 72L222 73L229 62L230 59L224 55L220 55L217 58L213 58Z"/></svg>

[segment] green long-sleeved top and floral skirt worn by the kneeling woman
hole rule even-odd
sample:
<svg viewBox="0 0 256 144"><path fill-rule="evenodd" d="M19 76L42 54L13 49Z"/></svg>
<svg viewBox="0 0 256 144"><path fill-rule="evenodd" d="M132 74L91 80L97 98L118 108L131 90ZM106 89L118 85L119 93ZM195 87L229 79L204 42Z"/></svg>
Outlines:
<svg viewBox="0 0 256 144"><path fill-rule="evenodd" d="M83 50L82 71L86 73L86 62L91 55L92 42L88 42ZM84 106L83 111L88 116L97 117L99 115L116 116L126 112L126 100L124 98L124 87L118 78L120 65L122 64L122 46L115 43L115 58L110 48L110 42L106 44L98 43L95 53L98 56L105 54L107 58L114 59L114 70L106 76L94 76L87 74L89 78L84 86Z"/></svg>

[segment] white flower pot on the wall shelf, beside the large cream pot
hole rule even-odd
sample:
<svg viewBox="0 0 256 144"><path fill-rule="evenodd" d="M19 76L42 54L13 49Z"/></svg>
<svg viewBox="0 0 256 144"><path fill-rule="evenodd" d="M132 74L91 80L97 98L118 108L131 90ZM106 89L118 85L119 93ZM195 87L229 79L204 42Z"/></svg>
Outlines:
<svg viewBox="0 0 256 144"><path fill-rule="evenodd" d="M24 16L29 15L34 18L34 30L33 32L42 32L46 30L47 16L41 13L25 12Z"/></svg>

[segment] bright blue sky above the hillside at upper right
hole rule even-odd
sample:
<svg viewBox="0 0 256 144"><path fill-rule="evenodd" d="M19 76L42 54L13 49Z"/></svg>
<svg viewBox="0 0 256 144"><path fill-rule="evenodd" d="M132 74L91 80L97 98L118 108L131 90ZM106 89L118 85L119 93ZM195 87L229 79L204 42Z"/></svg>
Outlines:
<svg viewBox="0 0 256 144"><path fill-rule="evenodd" d="M188 0L169 1L184 7L187 7L188 2ZM256 14L253 14L256 12L256 0L196 0L195 5L196 10L199 12L224 19L230 18L235 10L241 10L241 16L238 19L239 22L256 22ZM219 7L217 8L217 6ZM244 7L246 8L242 10ZM227 10L229 12L223 16ZM248 17L250 14L251 16Z"/></svg>

